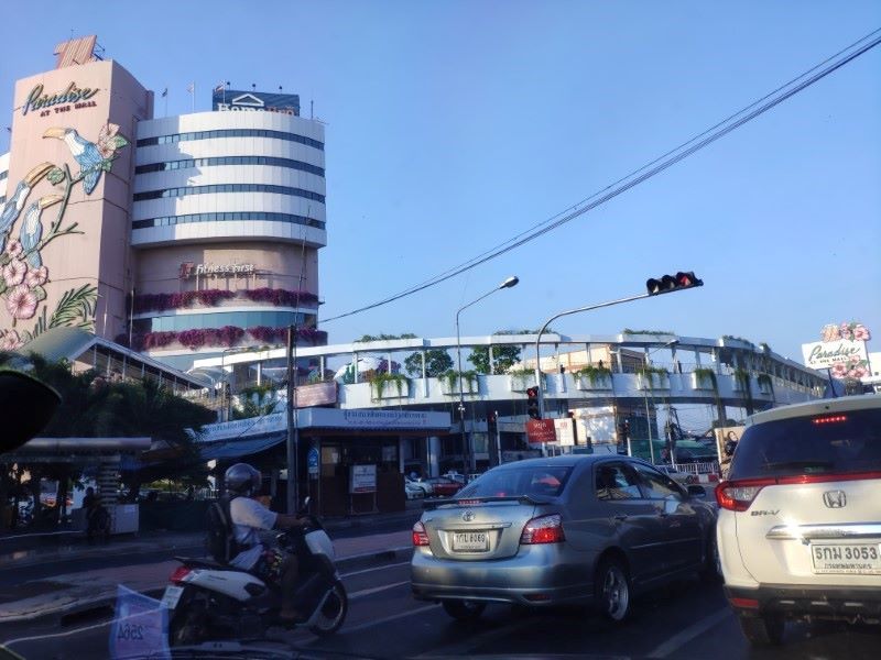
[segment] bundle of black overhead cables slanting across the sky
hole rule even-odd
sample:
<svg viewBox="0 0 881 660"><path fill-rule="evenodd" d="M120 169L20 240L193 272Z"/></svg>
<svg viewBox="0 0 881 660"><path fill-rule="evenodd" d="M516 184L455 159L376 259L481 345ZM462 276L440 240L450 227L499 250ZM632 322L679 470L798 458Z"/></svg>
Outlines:
<svg viewBox="0 0 881 660"><path fill-rule="evenodd" d="M416 284L403 292L389 296L388 298L383 298L365 307L359 307L357 309L352 309L351 311L347 311L345 314L340 314L337 316L329 317L324 319L322 322L327 323L330 321L335 321L337 319L350 317L357 314L361 314L363 311L368 311L370 309L376 309L377 307L381 307L383 305L388 305L390 302L394 302L395 300L400 300L406 296L411 296L418 292L425 290L429 287L433 287L437 284L446 282L457 275L461 275L463 273L470 271L488 261L497 258L502 254L505 254L521 245L529 243L530 241L534 241L535 239L570 222L572 220L583 216L587 211L590 211L598 206L609 201L610 199L618 197L622 193L626 193L630 188L638 186L639 184L652 178L656 174L665 170L666 168L675 165L679 161L687 158L692 154L700 151L705 146L716 142L720 138L724 138L731 131L740 128L748 121L751 121L759 117L760 114L771 110L775 106L782 103L786 99L795 96L800 91L806 89L807 87L814 85L814 82L825 78L833 72L841 68L849 62L856 59L863 53L870 51L871 48L875 47L879 43L881 43L881 29L874 30L867 34L866 36L857 40L849 46L842 48L835 55L827 57L819 64L813 66L808 70L804 72L803 74L796 76L792 80L781 85L773 91L766 94L762 98L753 101L749 106L738 110L733 114L730 114L726 119L721 120L720 122L716 123L715 125L710 127L709 129L698 133L694 138L689 139L688 141L679 144L678 146L670 150L668 152L664 153L663 155L656 157L655 160L646 163L639 169L634 169L630 174L621 177L617 182L613 182L601 188L600 190L594 193L589 197L583 199L581 201L568 207L564 211L552 216L536 224L533 224L529 229L522 231L521 233L508 239L507 241L487 250L478 254L477 256L471 257L470 260L457 265L453 266L452 268L444 271L426 279L420 284Z"/></svg>

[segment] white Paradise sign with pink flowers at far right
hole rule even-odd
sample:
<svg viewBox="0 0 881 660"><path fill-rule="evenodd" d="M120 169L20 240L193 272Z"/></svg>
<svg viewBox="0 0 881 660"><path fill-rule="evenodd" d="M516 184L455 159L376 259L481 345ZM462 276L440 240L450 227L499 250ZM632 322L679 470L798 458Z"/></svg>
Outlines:
<svg viewBox="0 0 881 660"><path fill-rule="evenodd" d="M805 366L829 370L835 378L862 378L869 375L869 353L866 342L871 339L869 329L850 321L823 327L822 340L802 344Z"/></svg>

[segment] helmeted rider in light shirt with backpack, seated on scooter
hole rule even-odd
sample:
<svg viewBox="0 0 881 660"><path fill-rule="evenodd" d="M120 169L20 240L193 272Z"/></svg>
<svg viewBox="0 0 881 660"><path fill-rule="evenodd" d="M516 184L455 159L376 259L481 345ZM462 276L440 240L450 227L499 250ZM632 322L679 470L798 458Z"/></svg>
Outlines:
<svg viewBox="0 0 881 660"><path fill-rule="evenodd" d="M278 548L268 548L260 540L260 530L290 529L303 525L296 516L272 512L257 497L262 477L260 471L248 463L236 463L226 471L227 491L230 493L229 517L236 541L241 551L230 560L230 565L244 569L267 583L280 587L282 608L279 618L294 622L300 614L294 609L294 586L298 574L294 554Z"/></svg>

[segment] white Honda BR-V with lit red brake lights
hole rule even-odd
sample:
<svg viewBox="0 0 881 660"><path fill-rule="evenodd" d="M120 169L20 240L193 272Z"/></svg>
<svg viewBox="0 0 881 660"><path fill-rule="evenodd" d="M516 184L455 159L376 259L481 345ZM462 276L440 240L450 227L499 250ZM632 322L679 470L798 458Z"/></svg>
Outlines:
<svg viewBox="0 0 881 660"><path fill-rule="evenodd" d="M881 396L752 416L716 499L725 591L750 642L780 644L786 619L881 623Z"/></svg>

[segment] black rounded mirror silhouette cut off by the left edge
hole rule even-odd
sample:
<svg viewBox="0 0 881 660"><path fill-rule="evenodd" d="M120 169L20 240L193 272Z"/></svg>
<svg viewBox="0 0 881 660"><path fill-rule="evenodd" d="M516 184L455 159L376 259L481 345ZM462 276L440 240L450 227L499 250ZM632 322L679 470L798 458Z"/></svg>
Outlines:
<svg viewBox="0 0 881 660"><path fill-rule="evenodd" d="M0 415L4 420L0 454L42 431L61 403L61 395L45 383L21 372L0 372Z"/></svg>

